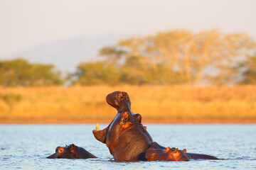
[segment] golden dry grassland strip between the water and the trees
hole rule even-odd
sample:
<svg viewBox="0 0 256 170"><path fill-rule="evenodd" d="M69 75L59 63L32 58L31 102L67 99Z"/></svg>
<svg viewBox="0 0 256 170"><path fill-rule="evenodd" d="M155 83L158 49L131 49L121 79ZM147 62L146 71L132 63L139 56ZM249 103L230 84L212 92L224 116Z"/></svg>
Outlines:
<svg viewBox="0 0 256 170"><path fill-rule="evenodd" d="M256 123L256 86L0 88L0 123L110 123L105 101L127 91L142 123Z"/></svg>

